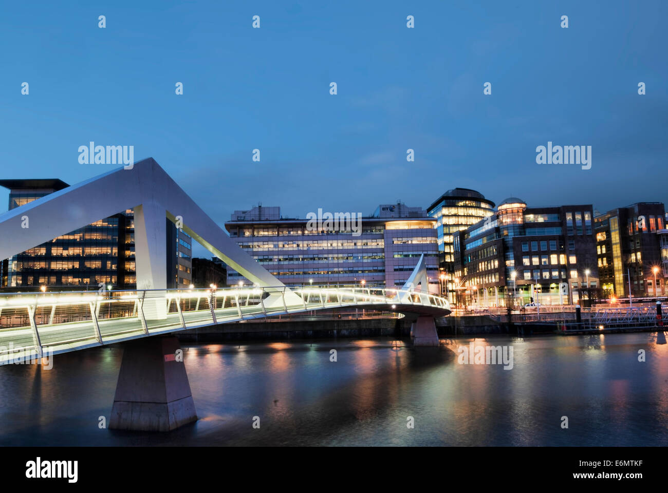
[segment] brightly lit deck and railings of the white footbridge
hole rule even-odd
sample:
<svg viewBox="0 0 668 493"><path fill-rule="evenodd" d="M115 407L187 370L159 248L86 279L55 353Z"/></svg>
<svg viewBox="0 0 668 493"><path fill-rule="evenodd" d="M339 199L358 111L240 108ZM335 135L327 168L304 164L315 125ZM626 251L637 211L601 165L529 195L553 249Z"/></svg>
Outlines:
<svg viewBox="0 0 668 493"><path fill-rule="evenodd" d="M397 305L448 310L448 301L417 289L236 287L69 291L0 295L0 363L21 348L39 354L114 343L248 319L357 305L400 311ZM11 348L11 349L10 349Z"/></svg>

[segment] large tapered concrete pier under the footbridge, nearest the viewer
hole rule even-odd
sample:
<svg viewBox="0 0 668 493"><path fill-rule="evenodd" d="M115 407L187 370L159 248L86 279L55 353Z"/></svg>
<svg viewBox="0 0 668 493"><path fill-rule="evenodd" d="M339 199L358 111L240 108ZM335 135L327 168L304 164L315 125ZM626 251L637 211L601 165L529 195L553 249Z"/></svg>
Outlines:
<svg viewBox="0 0 668 493"><path fill-rule="evenodd" d="M168 432L197 420L174 336L125 343L109 428Z"/></svg>

